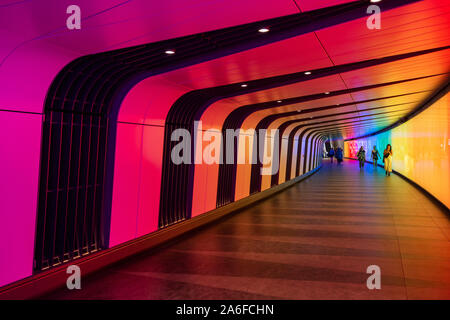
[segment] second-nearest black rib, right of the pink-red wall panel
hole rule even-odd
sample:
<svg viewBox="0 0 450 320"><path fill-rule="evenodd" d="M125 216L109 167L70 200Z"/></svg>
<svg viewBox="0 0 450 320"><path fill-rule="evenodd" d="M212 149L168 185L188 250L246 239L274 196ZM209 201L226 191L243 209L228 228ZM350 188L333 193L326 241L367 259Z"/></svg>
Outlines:
<svg viewBox="0 0 450 320"><path fill-rule="evenodd" d="M167 173L167 175L163 175L164 179L162 180L162 197L161 198L161 207L160 214L165 214L165 212L170 212L171 204L174 199L183 199L187 205L185 206L185 210L181 213L183 216L190 216L190 199L192 198L192 190L193 189L193 179L194 179L194 166L190 165L174 165L170 162L170 150L173 148L174 143L170 140L171 133L173 130L178 128L187 129L193 133L193 123L195 120L199 120L203 112L211 105L212 103L237 95L247 94L251 92L256 92L260 90L265 90L269 88L275 88L280 86L285 86L292 83L298 83L302 81L308 81L312 79L317 79L337 73L349 72L353 70L358 70L361 68L366 68L370 66L380 65L388 62L399 61L402 59L412 58L420 55L425 55L432 52L442 51L450 48L450 46L433 48L423 51L410 52L406 54L400 54L395 56L388 56L383 58L371 59L366 61L360 61L356 63L349 63L344 65L338 65L334 67L321 68L316 70L309 70L312 72L311 75L305 75L304 72L297 72L293 74L269 77L259 80L247 81L247 87L243 88L239 84L231 84L225 86L219 86L214 88L207 88L201 90L194 90L189 93L186 93L182 97L180 97L170 109L167 119L166 119L166 129L165 129L165 143L164 143L164 161L163 161L163 172ZM227 145L227 142L224 140L224 146ZM193 150L192 150L193 151ZM192 152L193 154L193 152ZM220 175L219 166L219 179L223 176ZM170 175L170 176L169 176ZM178 180L177 176L180 176L181 185L185 186L186 190L182 191L181 195L177 195L175 193L170 193L171 190L171 181ZM182 178L181 178L182 177ZM222 181L222 180L220 180ZM226 187L228 189L227 194L223 193L218 194L217 197L217 205L224 205L229 203L231 197L234 195L230 192L231 187L230 183L221 183L219 184L219 188ZM190 190L190 191L189 191ZM170 196L164 196L164 194L170 194ZM167 225L163 221L161 221L162 225Z"/></svg>

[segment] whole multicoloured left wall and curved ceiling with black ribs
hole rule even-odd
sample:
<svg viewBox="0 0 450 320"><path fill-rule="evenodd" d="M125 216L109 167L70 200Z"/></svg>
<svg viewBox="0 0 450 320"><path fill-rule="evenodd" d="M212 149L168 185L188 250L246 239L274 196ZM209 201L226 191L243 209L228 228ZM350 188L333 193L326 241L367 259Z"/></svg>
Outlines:
<svg viewBox="0 0 450 320"><path fill-rule="evenodd" d="M383 2L396 46L368 33L369 3L79 0L76 31L61 1L0 6L0 286L305 175L333 128L409 112L448 71L447 16L419 14L442 2ZM193 157L234 149L234 163L174 164L180 128L209 135Z"/></svg>

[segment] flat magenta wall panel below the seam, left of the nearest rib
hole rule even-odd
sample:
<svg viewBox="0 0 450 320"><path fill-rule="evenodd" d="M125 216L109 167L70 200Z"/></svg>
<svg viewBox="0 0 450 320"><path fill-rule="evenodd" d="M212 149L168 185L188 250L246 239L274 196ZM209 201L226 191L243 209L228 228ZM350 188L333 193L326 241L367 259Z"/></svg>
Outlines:
<svg viewBox="0 0 450 320"><path fill-rule="evenodd" d="M0 111L0 286L31 275L42 116Z"/></svg>

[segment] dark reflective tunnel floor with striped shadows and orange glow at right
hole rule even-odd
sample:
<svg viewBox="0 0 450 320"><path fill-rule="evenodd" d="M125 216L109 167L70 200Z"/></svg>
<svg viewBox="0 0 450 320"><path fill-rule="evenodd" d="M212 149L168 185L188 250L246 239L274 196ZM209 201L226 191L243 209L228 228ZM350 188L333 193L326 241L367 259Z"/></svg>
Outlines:
<svg viewBox="0 0 450 320"><path fill-rule="evenodd" d="M243 212L47 299L450 299L450 219L396 175L324 162ZM369 265L381 289L369 290Z"/></svg>

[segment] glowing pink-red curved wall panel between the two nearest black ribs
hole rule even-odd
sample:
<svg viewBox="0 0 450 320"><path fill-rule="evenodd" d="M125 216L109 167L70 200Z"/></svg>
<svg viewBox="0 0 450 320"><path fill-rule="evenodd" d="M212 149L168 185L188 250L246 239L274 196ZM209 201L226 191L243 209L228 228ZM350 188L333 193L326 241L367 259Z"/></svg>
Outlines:
<svg viewBox="0 0 450 320"><path fill-rule="evenodd" d="M110 246L158 229L164 122L187 88L147 78L124 98L118 115Z"/></svg>

